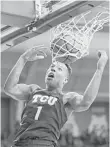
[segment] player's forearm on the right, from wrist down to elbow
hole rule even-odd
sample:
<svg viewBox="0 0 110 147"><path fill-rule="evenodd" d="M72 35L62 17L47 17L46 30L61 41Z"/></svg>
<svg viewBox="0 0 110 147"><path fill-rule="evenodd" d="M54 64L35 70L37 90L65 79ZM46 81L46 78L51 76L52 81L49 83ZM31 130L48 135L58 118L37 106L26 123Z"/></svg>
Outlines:
<svg viewBox="0 0 110 147"><path fill-rule="evenodd" d="M87 105L87 107L89 107L93 103L98 94L102 74L103 69L97 69L92 80L90 81L84 92L83 102Z"/></svg>

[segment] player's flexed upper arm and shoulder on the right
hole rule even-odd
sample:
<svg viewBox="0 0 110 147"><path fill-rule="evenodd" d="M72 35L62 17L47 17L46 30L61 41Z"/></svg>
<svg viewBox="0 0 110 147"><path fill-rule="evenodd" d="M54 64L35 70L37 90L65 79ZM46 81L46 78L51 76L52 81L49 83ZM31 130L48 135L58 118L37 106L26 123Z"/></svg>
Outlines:
<svg viewBox="0 0 110 147"><path fill-rule="evenodd" d="M69 103L75 112L86 111L88 109L88 106L84 102L83 95L80 95L76 92L69 92L67 93L66 99L67 103Z"/></svg>

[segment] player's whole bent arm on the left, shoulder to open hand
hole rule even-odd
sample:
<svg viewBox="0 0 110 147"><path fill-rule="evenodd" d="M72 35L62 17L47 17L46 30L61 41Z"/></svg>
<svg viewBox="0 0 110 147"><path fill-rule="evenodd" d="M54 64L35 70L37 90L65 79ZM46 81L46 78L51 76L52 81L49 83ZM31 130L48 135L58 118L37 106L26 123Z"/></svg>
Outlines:
<svg viewBox="0 0 110 147"><path fill-rule="evenodd" d="M38 55L38 52L38 48L33 48L20 56L4 85L4 91L7 95L17 100L27 100L33 90L39 88L39 86L34 84L18 84L19 77L26 62L44 58L45 54L42 52L43 54Z"/></svg>

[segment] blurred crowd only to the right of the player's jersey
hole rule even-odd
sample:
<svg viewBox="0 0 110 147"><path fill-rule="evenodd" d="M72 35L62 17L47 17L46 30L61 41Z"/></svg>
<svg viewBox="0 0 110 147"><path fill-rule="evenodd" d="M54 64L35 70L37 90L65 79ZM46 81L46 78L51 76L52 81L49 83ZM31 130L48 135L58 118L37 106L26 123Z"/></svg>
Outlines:
<svg viewBox="0 0 110 147"><path fill-rule="evenodd" d="M103 130L103 133L97 136L95 130L86 130L80 136L74 137L67 130L60 136L59 147L109 147L109 132Z"/></svg>

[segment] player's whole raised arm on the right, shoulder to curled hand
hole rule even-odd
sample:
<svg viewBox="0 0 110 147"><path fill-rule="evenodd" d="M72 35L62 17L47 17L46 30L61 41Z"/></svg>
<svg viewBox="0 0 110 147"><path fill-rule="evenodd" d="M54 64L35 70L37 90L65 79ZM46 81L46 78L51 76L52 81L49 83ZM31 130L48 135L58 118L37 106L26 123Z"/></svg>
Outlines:
<svg viewBox="0 0 110 147"><path fill-rule="evenodd" d="M99 61L97 63L97 70L93 75L89 85L87 86L83 95L79 95L75 92L68 93L68 102L72 106L74 111L85 111L95 100L101 83L102 74L107 63L108 57L105 51L98 53Z"/></svg>

